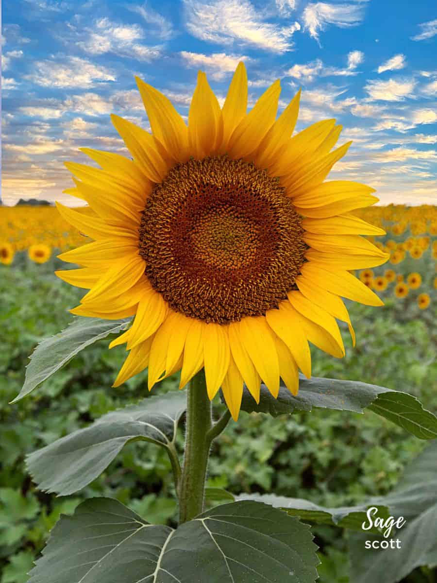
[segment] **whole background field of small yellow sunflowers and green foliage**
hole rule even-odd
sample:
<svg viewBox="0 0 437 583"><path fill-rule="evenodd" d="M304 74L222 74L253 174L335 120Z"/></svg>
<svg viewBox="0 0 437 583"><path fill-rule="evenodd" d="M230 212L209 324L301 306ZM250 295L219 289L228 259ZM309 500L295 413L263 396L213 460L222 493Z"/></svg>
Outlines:
<svg viewBox="0 0 437 583"><path fill-rule="evenodd" d="M344 334L343 359L311 348L312 374L405 391L435 412L437 208L373 206L355 214L386 230L385 236L369 239L389 252L389 261L354 272L385 305L375 310L346 300L357 346L353 348ZM96 342L48 378L33 398L8 404L23 385L28 355L41 340L65 328L71 320L66 307L77 305L83 294L55 277L54 271L65 269L57 255L88 240L52 206L0 207L0 233L0 582L26 583L33 560L59 516L72 515L83 500L112 497L148 521L170 526L177 521L177 504L164 450L138 442L126 445L79 492L56 496L50 488L37 489L26 456L147 396L147 372L111 387L124 351L109 352L105 341ZM343 330L347 332L346 324ZM175 377L165 379L154 392L165 395L175 389ZM242 413L238 423L231 422L214 441L207 476L211 506L241 493L265 496L262 499L269 503L272 491L284 500L306 498L325 511L346 505L361 508L366 500L383 503L399 489L404 470L422 456L427 463L426 477L420 477L422 494L435 508L435 447L424 448L424 441L402 427L372 413L327 414L314 409L278 415L274 419L262 412ZM175 447L181 451L182 444L179 435ZM38 474L37 462L33 471ZM37 477L41 483L43 478ZM369 565L357 563L353 531L340 519L308 521L319 547L319 581L367 581L358 577L358 571ZM425 529L425 522L421 519L418 524ZM397 581L436 581L437 573L425 564L405 568ZM380 577L373 581L385 581Z"/></svg>

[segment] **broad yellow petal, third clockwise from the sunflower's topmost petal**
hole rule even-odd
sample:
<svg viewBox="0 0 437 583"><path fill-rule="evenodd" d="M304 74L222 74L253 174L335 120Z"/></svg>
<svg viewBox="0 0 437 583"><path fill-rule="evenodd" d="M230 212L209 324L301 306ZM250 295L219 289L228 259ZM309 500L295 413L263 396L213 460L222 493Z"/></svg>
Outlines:
<svg viewBox="0 0 437 583"><path fill-rule="evenodd" d="M297 161L302 164L305 160L310 159L311 154L329 135L335 122L335 120L318 121L293 136L269 168L269 174L271 176L290 174Z"/></svg>

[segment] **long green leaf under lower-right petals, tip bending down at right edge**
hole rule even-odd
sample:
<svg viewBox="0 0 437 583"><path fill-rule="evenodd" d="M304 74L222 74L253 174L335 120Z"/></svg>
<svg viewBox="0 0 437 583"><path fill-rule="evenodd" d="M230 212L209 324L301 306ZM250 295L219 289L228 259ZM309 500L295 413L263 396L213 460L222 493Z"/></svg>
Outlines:
<svg viewBox="0 0 437 583"><path fill-rule="evenodd" d="M248 413L269 413L273 417L313 407L363 413L368 408L421 439L437 437L437 417L424 409L413 395L360 381L332 378L299 379L299 393L294 396L281 387L277 399L261 385L259 404L245 388L241 409Z"/></svg>

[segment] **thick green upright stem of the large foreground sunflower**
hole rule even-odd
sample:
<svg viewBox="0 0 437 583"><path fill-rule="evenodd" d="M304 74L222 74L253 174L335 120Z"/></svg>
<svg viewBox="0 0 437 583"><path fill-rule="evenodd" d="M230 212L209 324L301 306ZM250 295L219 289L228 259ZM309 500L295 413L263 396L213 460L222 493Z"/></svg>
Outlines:
<svg viewBox="0 0 437 583"><path fill-rule="evenodd" d="M179 524L203 511L206 466L212 427L211 403L206 392L205 373L201 370L187 386L185 457L179 485Z"/></svg>

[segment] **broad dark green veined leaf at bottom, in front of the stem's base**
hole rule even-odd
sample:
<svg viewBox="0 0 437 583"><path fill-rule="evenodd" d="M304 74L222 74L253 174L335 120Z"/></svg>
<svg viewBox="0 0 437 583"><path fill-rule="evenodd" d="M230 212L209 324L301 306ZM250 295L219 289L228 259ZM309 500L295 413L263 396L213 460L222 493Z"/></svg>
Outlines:
<svg viewBox="0 0 437 583"><path fill-rule="evenodd" d="M312 538L258 502L217 506L173 530L91 498L55 526L29 583L313 583Z"/></svg>

